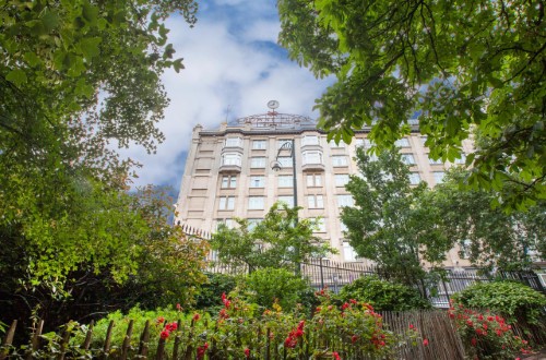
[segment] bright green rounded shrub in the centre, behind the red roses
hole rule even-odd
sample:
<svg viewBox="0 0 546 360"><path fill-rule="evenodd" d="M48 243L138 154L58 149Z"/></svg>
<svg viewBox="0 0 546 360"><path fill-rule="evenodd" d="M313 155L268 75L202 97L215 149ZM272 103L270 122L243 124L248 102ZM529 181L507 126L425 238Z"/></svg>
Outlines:
<svg viewBox="0 0 546 360"><path fill-rule="evenodd" d="M300 302L304 292L309 290L306 280L285 268L261 268L245 279L247 300L271 308L275 301L285 310Z"/></svg>

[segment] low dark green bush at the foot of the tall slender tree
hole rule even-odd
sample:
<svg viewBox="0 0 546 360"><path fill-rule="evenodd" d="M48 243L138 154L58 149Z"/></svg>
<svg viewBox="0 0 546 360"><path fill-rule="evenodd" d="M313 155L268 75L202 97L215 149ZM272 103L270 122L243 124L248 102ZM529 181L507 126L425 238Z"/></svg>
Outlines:
<svg viewBox="0 0 546 360"><path fill-rule="evenodd" d="M381 280L377 276L364 276L344 286L337 298L342 301L356 299L373 305L376 310L405 311L429 309L430 303L419 292L405 285Z"/></svg>

